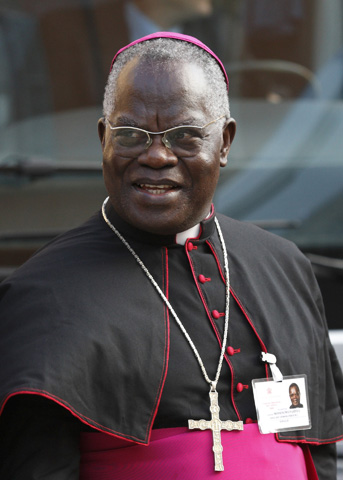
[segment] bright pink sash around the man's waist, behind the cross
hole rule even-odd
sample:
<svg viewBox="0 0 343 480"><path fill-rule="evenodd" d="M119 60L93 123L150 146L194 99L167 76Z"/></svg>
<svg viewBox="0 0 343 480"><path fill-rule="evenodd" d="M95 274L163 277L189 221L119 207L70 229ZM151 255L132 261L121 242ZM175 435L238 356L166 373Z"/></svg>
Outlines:
<svg viewBox="0 0 343 480"><path fill-rule="evenodd" d="M149 446L84 433L80 480L318 480L307 446L279 443L256 424L221 437L225 471L215 472L210 431L153 430Z"/></svg>

